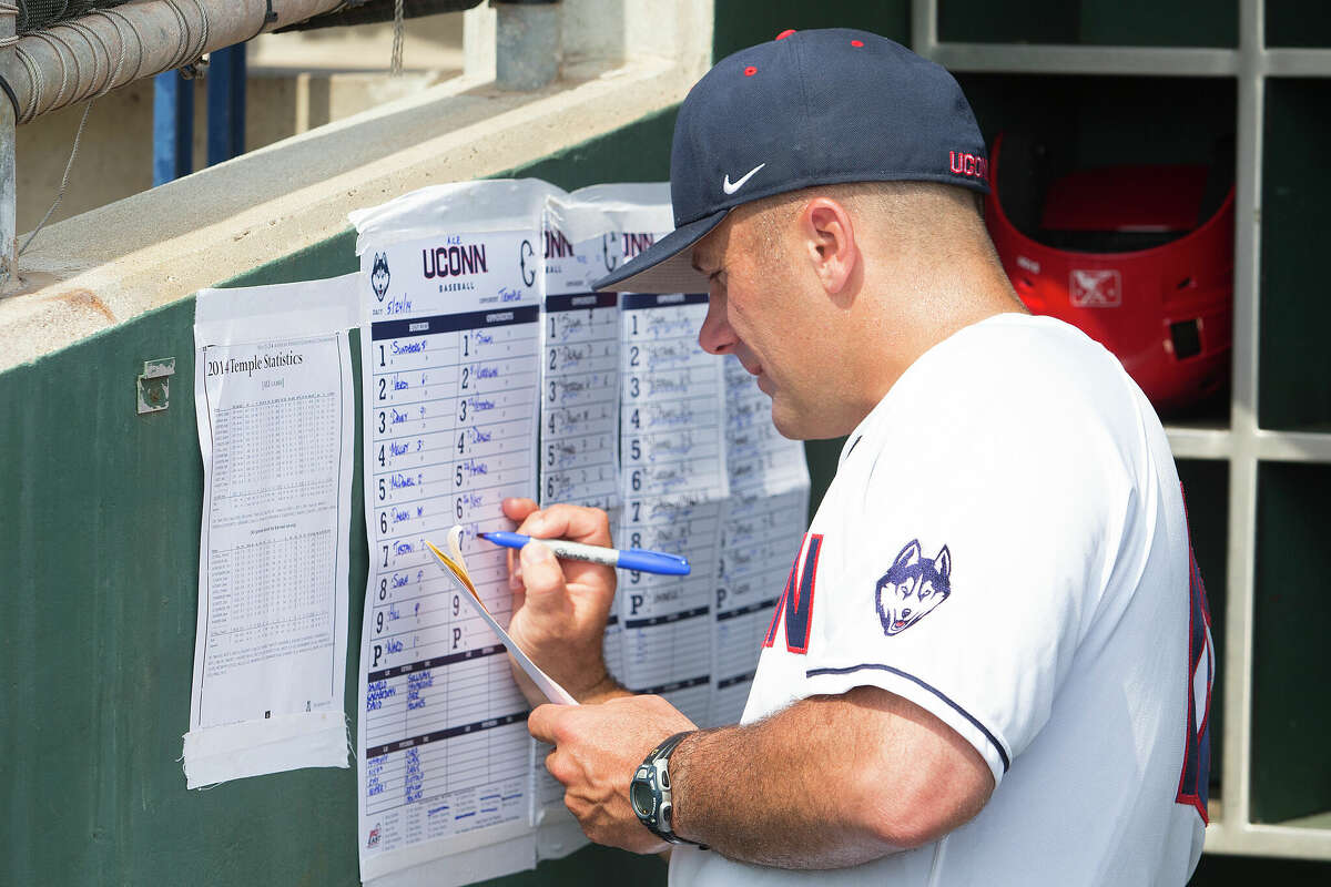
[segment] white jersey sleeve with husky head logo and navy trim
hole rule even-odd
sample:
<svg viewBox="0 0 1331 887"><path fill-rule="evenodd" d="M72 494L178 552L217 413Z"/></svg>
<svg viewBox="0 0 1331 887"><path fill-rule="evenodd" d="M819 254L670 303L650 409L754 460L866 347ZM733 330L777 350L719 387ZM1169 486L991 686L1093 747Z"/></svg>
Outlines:
<svg viewBox="0 0 1331 887"><path fill-rule="evenodd" d="M849 451L860 483L823 521L803 690L902 696L997 783L1050 717L1134 493L1114 435L1057 392L912 382Z"/></svg>

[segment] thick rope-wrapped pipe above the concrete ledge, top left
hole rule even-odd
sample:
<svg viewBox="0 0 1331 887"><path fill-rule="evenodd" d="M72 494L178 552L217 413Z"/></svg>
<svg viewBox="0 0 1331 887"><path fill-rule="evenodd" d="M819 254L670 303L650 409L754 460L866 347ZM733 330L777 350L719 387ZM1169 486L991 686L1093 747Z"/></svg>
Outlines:
<svg viewBox="0 0 1331 887"><path fill-rule="evenodd" d="M282 0L272 7L268 0L141 0L29 33L19 39L19 64L9 73L19 122L339 5L342 0ZM12 28L13 19L7 21Z"/></svg>

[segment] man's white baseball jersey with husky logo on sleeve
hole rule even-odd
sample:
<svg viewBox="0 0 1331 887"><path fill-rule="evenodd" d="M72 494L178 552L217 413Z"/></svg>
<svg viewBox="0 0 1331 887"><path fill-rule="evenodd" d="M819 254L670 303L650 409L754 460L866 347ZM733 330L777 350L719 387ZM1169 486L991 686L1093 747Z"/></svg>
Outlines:
<svg viewBox="0 0 1331 887"><path fill-rule="evenodd" d="M685 847L671 883L1183 884L1205 830L1207 618L1169 442L1118 360L1051 318L966 327L848 438L744 722L878 686L970 742L993 797L855 868Z"/></svg>

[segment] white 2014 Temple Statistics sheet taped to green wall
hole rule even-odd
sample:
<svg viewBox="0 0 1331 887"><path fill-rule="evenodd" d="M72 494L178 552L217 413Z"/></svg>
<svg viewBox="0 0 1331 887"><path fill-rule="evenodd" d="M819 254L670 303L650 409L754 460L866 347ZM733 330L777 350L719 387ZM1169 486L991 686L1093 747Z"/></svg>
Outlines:
<svg viewBox="0 0 1331 887"><path fill-rule="evenodd" d="M198 293L190 789L347 766L354 317L354 275Z"/></svg>

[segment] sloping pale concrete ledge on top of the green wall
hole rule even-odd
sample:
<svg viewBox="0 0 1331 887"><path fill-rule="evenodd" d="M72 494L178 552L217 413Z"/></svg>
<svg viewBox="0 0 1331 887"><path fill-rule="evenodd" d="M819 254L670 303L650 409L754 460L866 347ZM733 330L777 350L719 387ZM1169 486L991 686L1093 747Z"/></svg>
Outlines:
<svg viewBox="0 0 1331 887"><path fill-rule="evenodd" d="M668 5L668 4L662 4ZM578 64L536 93L461 77L45 229L0 299L0 370L343 231L351 209L539 161L683 100L711 4L666 11L689 47Z"/></svg>

